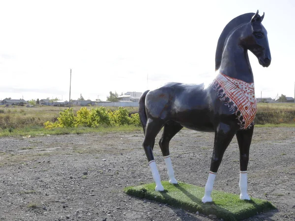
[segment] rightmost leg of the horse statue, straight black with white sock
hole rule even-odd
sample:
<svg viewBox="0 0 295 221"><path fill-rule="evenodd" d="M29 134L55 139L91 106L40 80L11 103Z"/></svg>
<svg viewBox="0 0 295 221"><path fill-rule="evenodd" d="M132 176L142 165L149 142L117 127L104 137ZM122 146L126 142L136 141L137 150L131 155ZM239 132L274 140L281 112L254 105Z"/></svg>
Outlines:
<svg viewBox="0 0 295 221"><path fill-rule="evenodd" d="M250 200L247 193L247 167L249 162L249 149L251 145L252 135L254 127L238 131L236 133L236 139L240 151L240 177L239 177L239 188L240 188L240 199Z"/></svg>

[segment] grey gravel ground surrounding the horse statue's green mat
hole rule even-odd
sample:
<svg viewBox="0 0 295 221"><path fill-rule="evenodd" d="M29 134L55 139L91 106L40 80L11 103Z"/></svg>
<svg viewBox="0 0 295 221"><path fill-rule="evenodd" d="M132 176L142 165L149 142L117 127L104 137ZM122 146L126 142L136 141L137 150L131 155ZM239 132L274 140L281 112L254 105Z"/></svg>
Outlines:
<svg viewBox="0 0 295 221"><path fill-rule="evenodd" d="M213 133L182 130L172 139L177 180L205 187L213 138ZM142 141L141 131L0 138L0 221L209 220L123 192L126 186L153 182ZM238 155L234 138L215 190L239 193ZM158 145L154 156L162 180L167 180ZM278 208L248 220L295 220L295 128L255 129L248 193Z"/></svg>

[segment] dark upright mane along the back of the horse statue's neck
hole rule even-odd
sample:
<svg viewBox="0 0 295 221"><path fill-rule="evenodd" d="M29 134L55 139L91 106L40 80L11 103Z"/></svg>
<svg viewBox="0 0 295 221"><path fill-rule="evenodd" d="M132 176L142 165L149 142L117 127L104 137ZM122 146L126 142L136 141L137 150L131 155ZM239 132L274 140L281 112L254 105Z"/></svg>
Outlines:
<svg viewBox="0 0 295 221"><path fill-rule="evenodd" d="M224 44L229 34L241 24L250 22L253 15L255 15L255 13L246 13L246 14L237 16L232 21L230 21L226 25L226 27L223 29L217 42L217 48L216 48L216 54L215 54L215 70L218 70L220 67Z"/></svg>

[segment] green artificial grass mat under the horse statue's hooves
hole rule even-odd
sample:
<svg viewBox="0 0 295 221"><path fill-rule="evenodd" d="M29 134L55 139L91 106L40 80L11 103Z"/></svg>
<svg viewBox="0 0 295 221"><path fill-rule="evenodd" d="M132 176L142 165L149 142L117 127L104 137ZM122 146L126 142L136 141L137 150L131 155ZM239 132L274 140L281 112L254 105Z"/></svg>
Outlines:
<svg viewBox="0 0 295 221"><path fill-rule="evenodd" d="M276 209L269 201L252 198L240 200L238 194L212 191L213 202L202 202L205 188L191 184L170 184L163 181L163 192L155 191L155 183L144 184L136 187L126 187L124 192L140 198L167 203L171 206L197 212L205 215L216 215L223 220L237 221L255 216L257 213Z"/></svg>

